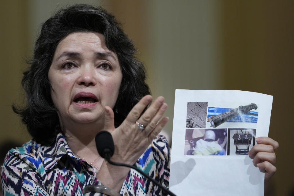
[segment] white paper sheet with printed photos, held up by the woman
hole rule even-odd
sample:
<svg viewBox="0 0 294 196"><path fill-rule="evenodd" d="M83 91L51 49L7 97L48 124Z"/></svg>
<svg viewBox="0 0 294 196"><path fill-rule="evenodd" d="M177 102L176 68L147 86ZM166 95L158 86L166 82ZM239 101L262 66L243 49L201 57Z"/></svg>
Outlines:
<svg viewBox="0 0 294 196"><path fill-rule="evenodd" d="M246 153L248 146L250 150L252 145L256 144L255 137L268 136L272 101L273 96L255 92L177 89L175 91L169 189L178 196L263 195L264 173L253 165L252 159L248 155L236 153ZM192 103L189 106L192 108L188 108L188 103ZM209 127L211 123L207 122L208 109L232 109L251 103L258 106L257 109L248 111L258 114L258 116L251 116L252 119L257 118L257 123L251 121L225 122L215 128ZM188 111L190 113L187 116ZM197 126L197 128L191 126L192 121L193 126ZM224 156L194 155L198 152L202 153L203 148L201 149L200 143L197 142L201 141L199 138L205 138L207 136L205 136L205 132L209 130L213 130L217 135L219 133L226 134L224 137L218 135L219 139L215 141L216 145L220 143L220 146L223 147L223 150L218 152L225 152ZM242 133L241 131L246 133L246 135L241 134L246 138L240 139L241 136L238 133ZM234 134L236 134L235 139L233 139ZM234 145L234 141L236 144L239 141L247 142L251 135L253 135L253 139L251 139L250 145ZM204 140L202 141L204 142ZM190 142L198 145L192 149L194 144L190 145ZM238 148L245 147L245 150L238 149L237 151L236 146ZM229 155L227 155L228 151ZM192 153L192 155L187 155L187 153Z"/></svg>

